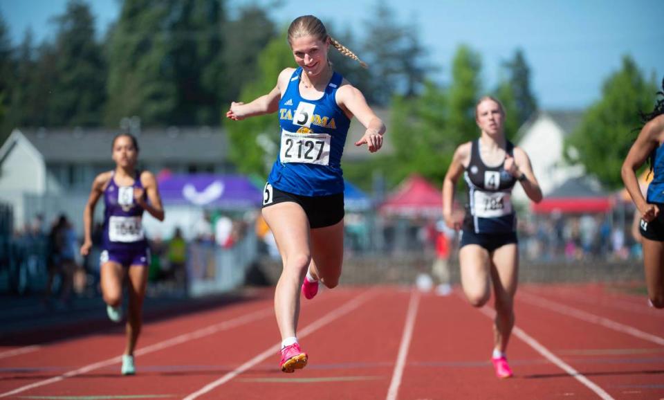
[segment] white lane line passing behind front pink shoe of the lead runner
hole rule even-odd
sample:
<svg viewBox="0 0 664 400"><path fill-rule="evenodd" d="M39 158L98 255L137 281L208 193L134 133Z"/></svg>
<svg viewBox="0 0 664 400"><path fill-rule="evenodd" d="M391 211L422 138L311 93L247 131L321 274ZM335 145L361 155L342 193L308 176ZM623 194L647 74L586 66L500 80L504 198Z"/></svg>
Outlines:
<svg viewBox="0 0 664 400"><path fill-rule="evenodd" d="M358 307L360 307L362 303L366 302L367 300L369 300L370 297L373 297L375 295L376 291L366 291L365 293L362 293L360 296L346 302L346 304L342 305L342 307L339 307L338 309L335 309L326 316L319 318L314 322L311 322L311 324L307 325L304 329L299 331L297 337L301 339L304 338L305 336L308 336L309 334L312 334L317 329L324 327L324 325L327 325L333 320L344 316L345 314L353 311L354 309L357 309ZM207 385L203 386L203 388L196 390L196 392L189 394L187 397L184 397L183 400L193 400L196 399L196 397L199 397L205 393L214 390L214 388L223 385L224 383L233 379L235 376L238 376L239 374L245 372L246 370L249 370L251 367L257 365L258 363L261 363L269 356L274 356L279 352L279 347L281 347L280 343L277 343L276 345L269 347L261 354L258 354L257 356L251 358L246 363L243 363L242 365L237 367L235 370L228 372L228 374L221 376L221 378L217 379L216 381L208 383Z"/></svg>

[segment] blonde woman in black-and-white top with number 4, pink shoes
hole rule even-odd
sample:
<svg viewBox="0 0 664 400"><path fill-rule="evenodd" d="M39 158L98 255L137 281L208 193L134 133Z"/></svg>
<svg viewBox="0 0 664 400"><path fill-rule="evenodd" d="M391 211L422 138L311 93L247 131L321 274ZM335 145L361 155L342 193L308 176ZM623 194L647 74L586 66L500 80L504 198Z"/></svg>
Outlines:
<svg viewBox="0 0 664 400"><path fill-rule="evenodd" d="M514 326L513 300L519 272L517 219L510 194L517 181L532 201L542 200L542 190L526 152L505 137L502 104L495 98L481 98L475 107L475 119L480 137L457 147L445 174L443 217L450 228L461 229L461 286L470 304L486 304L493 286L496 316L492 361L496 375L508 378L512 371L505 352ZM454 188L461 174L468 186L463 218L452 210Z"/></svg>

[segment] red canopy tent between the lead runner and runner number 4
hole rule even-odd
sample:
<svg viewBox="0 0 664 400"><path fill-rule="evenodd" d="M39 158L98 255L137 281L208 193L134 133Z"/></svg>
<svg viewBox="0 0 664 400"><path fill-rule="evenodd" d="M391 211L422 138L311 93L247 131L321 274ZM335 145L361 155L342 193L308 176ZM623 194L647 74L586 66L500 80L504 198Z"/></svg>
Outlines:
<svg viewBox="0 0 664 400"><path fill-rule="evenodd" d="M392 192L380 212L387 215L403 217L426 216L439 218L443 213L443 196L426 179L419 175L411 175Z"/></svg>

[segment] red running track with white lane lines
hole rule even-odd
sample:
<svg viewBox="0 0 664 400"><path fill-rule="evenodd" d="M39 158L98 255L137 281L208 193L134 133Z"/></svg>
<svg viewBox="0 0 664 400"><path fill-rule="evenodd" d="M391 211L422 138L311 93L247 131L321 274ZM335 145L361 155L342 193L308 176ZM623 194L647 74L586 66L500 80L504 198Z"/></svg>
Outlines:
<svg viewBox="0 0 664 400"><path fill-rule="evenodd" d="M338 288L302 300L309 365L278 370L270 291L144 328L120 376L122 327L0 347L2 399L663 399L664 311L601 285L519 288L493 375L490 307L409 288ZM100 304L102 307L102 304Z"/></svg>

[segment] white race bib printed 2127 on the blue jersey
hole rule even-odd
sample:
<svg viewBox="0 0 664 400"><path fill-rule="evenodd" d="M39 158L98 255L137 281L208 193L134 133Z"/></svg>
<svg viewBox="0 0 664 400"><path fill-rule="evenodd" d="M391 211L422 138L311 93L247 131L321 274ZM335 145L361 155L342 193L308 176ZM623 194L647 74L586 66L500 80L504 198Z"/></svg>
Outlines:
<svg viewBox="0 0 664 400"><path fill-rule="evenodd" d="M279 158L282 163L329 165L330 140L329 134L293 134L282 131Z"/></svg>

